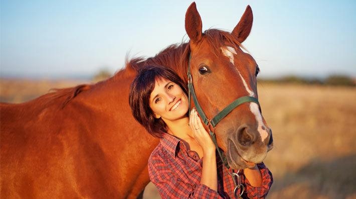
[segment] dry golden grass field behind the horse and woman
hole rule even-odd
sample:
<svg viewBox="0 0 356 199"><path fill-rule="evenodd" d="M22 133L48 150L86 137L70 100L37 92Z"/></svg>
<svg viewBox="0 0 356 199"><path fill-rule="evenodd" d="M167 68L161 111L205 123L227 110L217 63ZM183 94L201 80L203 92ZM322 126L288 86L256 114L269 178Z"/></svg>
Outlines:
<svg viewBox="0 0 356 199"><path fill-rule="evenodd" d="M79 81L1 80L1 101L21 103ZM356 198L356 88L259 84L274 148L267 198ZM159 198L154 186L144 198Z"/></svg>

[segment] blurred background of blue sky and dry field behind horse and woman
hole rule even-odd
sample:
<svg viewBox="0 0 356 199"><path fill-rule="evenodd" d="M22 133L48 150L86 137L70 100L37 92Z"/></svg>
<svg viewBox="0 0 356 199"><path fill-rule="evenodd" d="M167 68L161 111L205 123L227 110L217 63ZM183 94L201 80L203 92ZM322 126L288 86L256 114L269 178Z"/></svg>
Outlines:
<svg viewBox="0 0 356 199"><path fill-rule="evenodd" d="M0 1L0 99L95 83L125 58L187 42L191 1ZM254 13L243 45L256 59L274 148L268 198L356 198L355 1L196 1L203 30ZM154 186L144 198L159 198Z"/></svg>

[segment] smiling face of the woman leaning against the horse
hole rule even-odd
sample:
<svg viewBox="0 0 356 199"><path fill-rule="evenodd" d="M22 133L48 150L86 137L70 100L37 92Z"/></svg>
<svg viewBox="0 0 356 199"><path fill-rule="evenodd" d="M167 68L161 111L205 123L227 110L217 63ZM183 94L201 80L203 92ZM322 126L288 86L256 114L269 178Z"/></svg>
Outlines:
<svg viewBox="0 0 356 199"><path fill-rule="evenodd" d="M155 118L168 121L187 117L188 96L179 84L167 79L157 79L149 97L149 107Z"/></svg>

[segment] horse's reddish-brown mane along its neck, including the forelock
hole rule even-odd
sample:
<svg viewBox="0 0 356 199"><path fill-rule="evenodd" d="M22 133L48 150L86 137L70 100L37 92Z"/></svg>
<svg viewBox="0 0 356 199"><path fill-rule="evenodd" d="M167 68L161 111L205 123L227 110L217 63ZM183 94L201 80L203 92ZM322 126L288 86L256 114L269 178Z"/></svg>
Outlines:
<svg viewBox="0 0 356 199"><path fill-rule="evenodd" d="M225 46L226 43L233 44L234 48L242 47L245 49L237 39L229 32L218 30L218 29L208 29L203 35L208 40L211 49L214 49L214 53L220 56L221 46ZM198 43L199 45L199 43ZM245 49L246 50L246 49ZM163 65L172 68L176 71L184 81L188 81L186 77L186 69L188 68L189 54L191 52L189 42L181 44L172 44L167 48L160 51L154 57L144 58L144 57L134 57L130 60L126 58L125 68L116 72L112 77L107 80L98 82L104 83L107 81L113 81L116 78L120 78L123 73L129 73L130 75L136 74L142 67L146 65ZM96 84L98 84L96 83ZM46 94L47 99L64 98L62 108L72 101L79 93L89 90L96 84L81 84L71 88L53 89L54 92Z"/></svg>

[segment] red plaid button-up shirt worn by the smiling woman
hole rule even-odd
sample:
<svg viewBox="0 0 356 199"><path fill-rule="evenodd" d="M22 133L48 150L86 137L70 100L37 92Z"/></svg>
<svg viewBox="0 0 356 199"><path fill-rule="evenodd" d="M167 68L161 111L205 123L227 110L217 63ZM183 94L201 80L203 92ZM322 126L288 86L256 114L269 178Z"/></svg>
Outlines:
<svg viewBox="0 0 356 199"><path fill-rule="evenodd" d="M162 198L235 198L234 180L223 166L219 155L217 154L218 191L200 183L202 165L203 158L199 159L198 153L188 150L179 139L164 134L149 157L149 178ZM263 163L257 166L262 174L262 186L251 186L242 175L245 188L243 198L264 198L272 185L272 173Z"/></svg>

